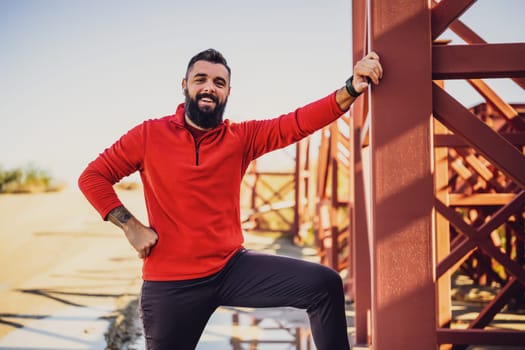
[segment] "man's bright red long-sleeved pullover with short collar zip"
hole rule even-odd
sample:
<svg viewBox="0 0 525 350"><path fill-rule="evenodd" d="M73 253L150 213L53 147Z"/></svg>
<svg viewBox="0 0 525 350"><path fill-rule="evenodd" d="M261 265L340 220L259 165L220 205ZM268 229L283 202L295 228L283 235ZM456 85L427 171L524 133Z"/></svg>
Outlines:
<svg viewBox="0 0 525 350"><path fill-rule="evenodd" d="M335 93L275 119L225 120L196 143L174 115L144 121L104 150L78 185L104 220L123 205L113 184L140 172L148 221L158 242L144 259L149 281L186 280L218 272L243 244L242 177L253 159L288 146L341 116Z"/></svg>

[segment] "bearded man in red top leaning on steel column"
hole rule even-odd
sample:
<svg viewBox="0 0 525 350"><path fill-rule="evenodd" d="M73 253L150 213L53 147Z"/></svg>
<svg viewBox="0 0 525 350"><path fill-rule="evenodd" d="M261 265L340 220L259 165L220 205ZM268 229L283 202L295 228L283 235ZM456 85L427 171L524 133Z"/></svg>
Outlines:
<svg viewBox="0 0 525 350"><path fill-rule="evenodd" d="M221 305L306 309L318 350L349 349L337 272L243 248L240 184L252 160L336 120L381 77L372 52L330 95L278 118L233 123L223 121L230 67L209 49L190 60L182 80L185 102L174 115L134 127L88 165L80 189L143 259L140 305L148 349L194 349ZM113 189L135 171L149 226Z"/></svg>

